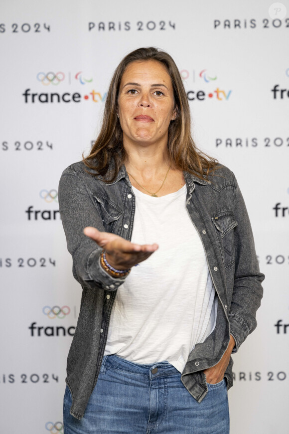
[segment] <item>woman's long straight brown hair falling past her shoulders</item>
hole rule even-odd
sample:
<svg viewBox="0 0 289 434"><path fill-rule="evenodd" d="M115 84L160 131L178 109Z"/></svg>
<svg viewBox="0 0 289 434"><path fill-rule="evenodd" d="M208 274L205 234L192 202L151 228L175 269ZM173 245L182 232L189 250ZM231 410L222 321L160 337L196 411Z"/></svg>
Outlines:
<svg viewBox="0 0 289 434"><path fill-rule="evenodd" d="M172 57L154 47L138 48L129 53L118 65L111 80L105 102L102 127L90 154L84 158L85 165L96 174L106 176L106 182L115 180L124 163L126 152L123 146L123 132L117 117L118 95L123 73L134 61L155 60L162 63L172 82L176 118L168 127L168 152L175 167L198 178L207 178L218 161L202 153L191 136L191 116L187 95L180 73ZM114 163L111 165L111 163ZM108 173L108 169L112 172Z"/></svg>

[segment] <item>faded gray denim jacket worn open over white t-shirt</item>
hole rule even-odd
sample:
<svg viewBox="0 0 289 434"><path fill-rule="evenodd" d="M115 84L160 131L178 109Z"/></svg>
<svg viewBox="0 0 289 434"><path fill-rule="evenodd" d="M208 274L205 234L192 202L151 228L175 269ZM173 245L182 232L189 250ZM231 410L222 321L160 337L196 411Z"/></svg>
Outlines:
<svg viewBox="0 0 289 434"><path fill-rule="evenodd" d="M77 419L83 417L96 385L116 290L125 280L103 270L102 249L83 234L83 228L94 226L130 240L136 209L124 166L116 180L108 184L85 169L82 162L69 166L59 184L60 214L73 257L73 275L82 285L66 378L72 396L70 413ZM234 174L221 166L209 181L186 172L184 177L186 208L202 240L218 295L216 327L203 343L195 346L181 375L185 388L201 402L208 392L203 370L219 362L230 334L235 339L236 352L257 325L264 274L259 271L249 217ZM225 372L228 388L233 385L232 365L231 358Z"/></svg>

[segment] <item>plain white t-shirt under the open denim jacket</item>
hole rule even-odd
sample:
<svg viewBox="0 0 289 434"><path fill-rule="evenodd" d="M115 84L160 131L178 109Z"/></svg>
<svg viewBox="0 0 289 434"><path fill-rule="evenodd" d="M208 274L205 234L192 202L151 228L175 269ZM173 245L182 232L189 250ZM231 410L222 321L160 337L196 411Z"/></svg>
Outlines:
<svg viewBox="0 0 289 434"><path fill-rule="evenodd" d="M104 354L139 364L167 360L182 372L191 350L215 328L215 288L185 207L186 186L160 198L133 191L132 242L159 248L118 288Z"/></svg>

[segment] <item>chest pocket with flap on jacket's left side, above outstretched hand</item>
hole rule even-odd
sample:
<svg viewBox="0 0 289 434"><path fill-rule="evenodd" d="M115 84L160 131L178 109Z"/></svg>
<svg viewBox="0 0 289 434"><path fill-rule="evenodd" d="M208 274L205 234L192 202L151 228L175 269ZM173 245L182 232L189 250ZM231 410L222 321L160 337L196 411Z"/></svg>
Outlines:
<svg viewBox="0 0 289 434"><path fill-rule="evenodd" d="M113 232L117 220L124 214L123 210L115 205L107 196L99 192L94 194L93 197L102 218L105 231Z"/></svg>

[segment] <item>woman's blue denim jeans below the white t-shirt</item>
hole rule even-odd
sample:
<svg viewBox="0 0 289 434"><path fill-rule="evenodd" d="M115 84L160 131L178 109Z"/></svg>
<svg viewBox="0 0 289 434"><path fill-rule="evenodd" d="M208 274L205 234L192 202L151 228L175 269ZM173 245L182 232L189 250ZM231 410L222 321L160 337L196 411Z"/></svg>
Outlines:
<svg viewBox="0 0 289 434"><path fill-rule="evenodd" d="M66 387L64 434L229 434L225 380L208 390L198 403L168 362L138 365L105 356L81 420L69 413Z"/></svg>

